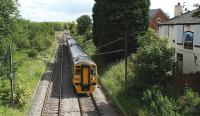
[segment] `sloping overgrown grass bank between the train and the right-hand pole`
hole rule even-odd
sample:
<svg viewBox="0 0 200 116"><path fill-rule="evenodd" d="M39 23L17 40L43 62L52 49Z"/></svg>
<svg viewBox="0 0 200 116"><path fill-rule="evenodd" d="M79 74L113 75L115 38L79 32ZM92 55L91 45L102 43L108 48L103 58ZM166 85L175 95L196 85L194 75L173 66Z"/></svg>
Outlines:
<svg viewBox="0 0 200 116"><path fill-rule="evenodd" d="M118 61L114 64L110 64L107 68L101 69L103 63L98 63L100 68L100 81L105 87L108 94L111 96L112 102L117 107L120 107L124 115L142 115L145 113L142 101L137 96L130 96L131 91L125 91L124 83L124 72L125 64L124 60ZM131 63L129 62L128 67L128 80L134 78L133 70L130 68Z"/></svg>

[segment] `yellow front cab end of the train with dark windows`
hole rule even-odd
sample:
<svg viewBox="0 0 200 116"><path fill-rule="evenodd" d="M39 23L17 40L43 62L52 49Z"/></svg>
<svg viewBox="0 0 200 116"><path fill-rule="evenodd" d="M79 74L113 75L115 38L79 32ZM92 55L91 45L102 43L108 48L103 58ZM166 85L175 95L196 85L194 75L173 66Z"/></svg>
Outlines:
<svg viewBox="0 0 200 116"><path fill-rule="evenodd" d="M74 65L73 84L78 94L92 93L97 85L96 64L81 63Z"/></svg>

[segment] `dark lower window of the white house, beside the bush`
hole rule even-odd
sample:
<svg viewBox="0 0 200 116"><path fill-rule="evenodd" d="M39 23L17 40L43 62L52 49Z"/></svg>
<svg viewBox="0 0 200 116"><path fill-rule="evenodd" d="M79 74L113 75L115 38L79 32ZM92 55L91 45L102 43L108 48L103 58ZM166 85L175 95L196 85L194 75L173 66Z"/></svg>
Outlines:
<svg viewBox="0 0 200 116"><path fill-rule="evenodd" d="M177 53L177 72L183 73L183 54Z"/></svg>

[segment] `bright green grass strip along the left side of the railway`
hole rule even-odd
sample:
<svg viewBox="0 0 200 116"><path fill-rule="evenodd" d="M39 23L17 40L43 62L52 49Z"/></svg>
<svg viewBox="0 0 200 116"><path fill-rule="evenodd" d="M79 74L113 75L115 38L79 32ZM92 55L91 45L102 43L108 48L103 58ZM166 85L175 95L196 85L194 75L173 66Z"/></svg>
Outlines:
<svg viewBox="0 0 200 116"><path fill-rule="evenodd" d="M57 45L57 41L54 41L52 46L46 51L40 52L36 58L28 58L16 64L20 68L16 71L16 79L22 78L23 81L20 84L26 87L26 92L30 93L28 103L22 109L12 109L7 106L0 106L0 116L25 116L27 115L28 108L31 103L32 96L36 89L37 83L40 79L41 73L46 67L46 62L52 58L52 52ZM14 53L14 62L19 61L27 57L26 51L16 51ZM17 80L15 80L17 82Z"/></svg>

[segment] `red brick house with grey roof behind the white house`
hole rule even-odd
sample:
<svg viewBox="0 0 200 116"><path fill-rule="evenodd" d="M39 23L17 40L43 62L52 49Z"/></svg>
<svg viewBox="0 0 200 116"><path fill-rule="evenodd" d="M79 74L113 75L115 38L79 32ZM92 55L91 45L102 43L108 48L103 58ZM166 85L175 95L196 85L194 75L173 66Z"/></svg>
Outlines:
<svg viewBox="0 0 200 116"><path fill-rule="evenodd" d="M155 32L158 32L158 23L169 20L169 16L167 16L160 8L149 10L149 17L150 27L154 29Z"/></svg>

